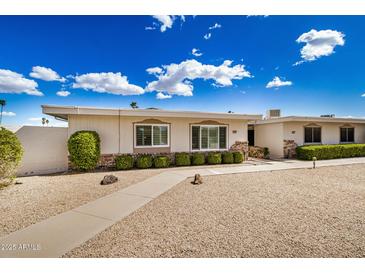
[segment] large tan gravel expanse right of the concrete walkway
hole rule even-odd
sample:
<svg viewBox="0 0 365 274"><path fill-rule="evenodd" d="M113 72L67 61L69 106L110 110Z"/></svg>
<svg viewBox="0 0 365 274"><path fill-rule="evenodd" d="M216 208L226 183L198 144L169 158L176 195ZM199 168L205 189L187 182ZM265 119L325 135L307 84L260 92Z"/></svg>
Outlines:
<svg viewBox="0 0 365 274"><path fill-rule="evenodd" d="M365 165L190 181L65 256L365 257Z"/></svg>

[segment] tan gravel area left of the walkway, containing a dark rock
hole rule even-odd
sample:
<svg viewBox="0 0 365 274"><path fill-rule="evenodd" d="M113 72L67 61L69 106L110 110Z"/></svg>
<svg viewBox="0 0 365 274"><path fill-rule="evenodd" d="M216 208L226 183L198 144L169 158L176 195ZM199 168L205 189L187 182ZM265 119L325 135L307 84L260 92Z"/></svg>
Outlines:
<svg viewBox="0 0 365 274"><path fill-rule="evenodd" d="M22 184L0 189L0 237L53 215L138 183L163 170L93 172L18 178ZM101 186L106 174L119 181Z"/></svg>

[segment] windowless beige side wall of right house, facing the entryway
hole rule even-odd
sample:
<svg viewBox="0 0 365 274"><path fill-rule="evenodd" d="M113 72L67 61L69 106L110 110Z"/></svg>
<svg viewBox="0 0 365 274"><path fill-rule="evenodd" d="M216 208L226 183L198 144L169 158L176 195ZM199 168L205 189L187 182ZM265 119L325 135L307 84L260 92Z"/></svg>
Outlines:
<svg viewBox="0 0 365 274"><path fill-rule="evenodd" d="M271 158L283 158L283 124L255 125L255 145L269 148Z"/></svg>

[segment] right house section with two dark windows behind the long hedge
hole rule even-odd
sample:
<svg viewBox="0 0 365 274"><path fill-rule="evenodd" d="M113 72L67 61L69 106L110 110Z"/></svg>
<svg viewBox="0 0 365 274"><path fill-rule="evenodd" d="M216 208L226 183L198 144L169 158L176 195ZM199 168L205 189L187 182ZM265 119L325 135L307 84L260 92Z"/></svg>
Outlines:
<svg viewBox="0 0 365 274"><path fill-rule="evenodd" d="M271 158L292 158L296 146L365 143L365 119L335 117L268 117L254 125L256 146Z"/></svg>

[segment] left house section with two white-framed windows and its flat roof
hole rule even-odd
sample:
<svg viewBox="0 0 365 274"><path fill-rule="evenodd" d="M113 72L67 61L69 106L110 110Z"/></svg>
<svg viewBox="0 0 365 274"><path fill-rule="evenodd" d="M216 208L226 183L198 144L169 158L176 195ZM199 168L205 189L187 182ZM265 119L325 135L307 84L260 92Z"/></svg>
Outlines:
<svg viewBox="0 0 365 274"><path fill-rule="evenodd" d="M43 113L68 121L68 136L94 130L101 138L101 154L173 153L228 150L247 146L249 121L262 115L42 106Z"/></svg>

